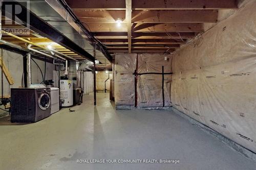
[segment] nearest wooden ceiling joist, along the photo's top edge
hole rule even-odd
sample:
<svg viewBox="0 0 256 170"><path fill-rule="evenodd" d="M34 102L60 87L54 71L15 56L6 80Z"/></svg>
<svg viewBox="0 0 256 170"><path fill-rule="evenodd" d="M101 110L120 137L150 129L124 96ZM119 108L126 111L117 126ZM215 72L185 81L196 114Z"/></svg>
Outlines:
<svg viewBox="0 0 256 170"><path fill-rule="evenodd" d="M120 0L66 0L73 9L80 10L125 10L125 1ZM206 10L206 9L237 9L236 0L133 0L134 10Z"/></svg>

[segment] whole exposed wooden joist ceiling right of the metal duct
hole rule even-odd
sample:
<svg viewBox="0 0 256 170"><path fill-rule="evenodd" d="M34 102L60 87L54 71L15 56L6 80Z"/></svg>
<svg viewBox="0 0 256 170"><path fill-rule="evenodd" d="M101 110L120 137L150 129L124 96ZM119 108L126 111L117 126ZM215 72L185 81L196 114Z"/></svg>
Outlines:
<svg viewBox="0 0 256 170"><path fill-rule="evenodd" d="M237 0L66 1L112 54L173 52L218 22L219 9L238 8Z"/></svg>

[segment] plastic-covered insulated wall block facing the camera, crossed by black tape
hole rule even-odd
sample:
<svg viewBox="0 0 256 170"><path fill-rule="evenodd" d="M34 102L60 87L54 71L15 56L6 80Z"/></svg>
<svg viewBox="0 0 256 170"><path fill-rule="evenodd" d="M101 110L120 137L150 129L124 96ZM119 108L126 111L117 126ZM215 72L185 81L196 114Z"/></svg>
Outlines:
<svg viewBox="0 0 256 170"><path fill-rule="evenodd" d="M170 55L163 54L116 55L114 71L116 106L135 106L135 104L137 107L171 106L170 83L172 77L168 75L171 72L171 61ZM166 74L164 81L162 81L162 66ZM137 90L135 90L135 70L138 74Z"/></svg>

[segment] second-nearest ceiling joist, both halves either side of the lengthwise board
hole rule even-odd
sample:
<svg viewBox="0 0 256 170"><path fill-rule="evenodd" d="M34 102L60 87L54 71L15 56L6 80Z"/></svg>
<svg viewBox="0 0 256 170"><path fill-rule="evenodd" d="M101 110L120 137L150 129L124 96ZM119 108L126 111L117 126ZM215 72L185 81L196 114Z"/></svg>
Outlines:
<svg viewBox="0 0 256 170"><path fill-rule="evenodd" d="M85 23L116 23L117 20L126 22L125 11L84 11L74 10L81 22ZM133 11L133 23L203 23L217 22L218 10L150 10Z"/></svg>

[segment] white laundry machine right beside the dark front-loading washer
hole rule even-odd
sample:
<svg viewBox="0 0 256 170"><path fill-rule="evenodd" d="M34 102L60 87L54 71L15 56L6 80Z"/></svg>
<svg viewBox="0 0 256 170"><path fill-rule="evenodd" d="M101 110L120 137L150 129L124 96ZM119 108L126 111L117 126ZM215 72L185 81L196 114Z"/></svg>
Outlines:
<svg viewBox="0 0 256 170"><path fill-rule="evenodd" d="M50 87L51 89L51 114L59 111L59 88Z"/></svg>

